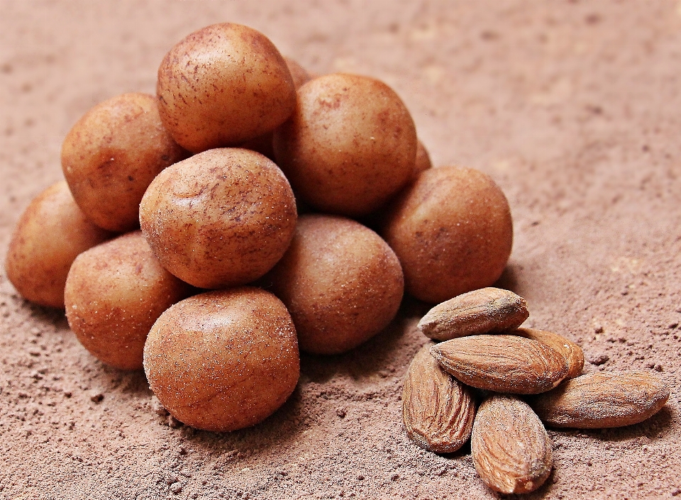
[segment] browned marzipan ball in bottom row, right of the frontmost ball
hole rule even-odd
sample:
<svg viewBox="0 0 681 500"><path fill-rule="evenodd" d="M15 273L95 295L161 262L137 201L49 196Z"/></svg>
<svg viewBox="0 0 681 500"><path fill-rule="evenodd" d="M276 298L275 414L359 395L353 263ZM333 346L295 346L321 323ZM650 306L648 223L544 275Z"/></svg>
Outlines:
<svg viewBox="0 0 681 500"><path fill-rule="evenodd" d="M385 328L404 292L396 255L348 218L301 216L289 250L263 280L286 304L301 350L337 354Z"/></svg>

